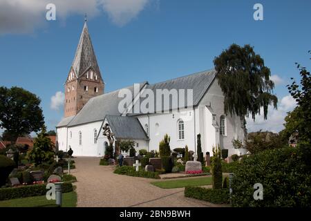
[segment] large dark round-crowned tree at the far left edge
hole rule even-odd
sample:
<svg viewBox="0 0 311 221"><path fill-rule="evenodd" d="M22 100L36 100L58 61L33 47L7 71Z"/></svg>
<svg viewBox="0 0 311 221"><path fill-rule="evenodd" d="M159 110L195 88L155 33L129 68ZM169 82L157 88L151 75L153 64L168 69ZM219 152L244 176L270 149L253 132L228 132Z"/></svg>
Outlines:
<svg viewBox="0 0 311 221"><path fill-rule="evenodd" d="M23 88L0 87L0 127L10 134L11 142L44 126L40 102L39 97Z"/></svg>

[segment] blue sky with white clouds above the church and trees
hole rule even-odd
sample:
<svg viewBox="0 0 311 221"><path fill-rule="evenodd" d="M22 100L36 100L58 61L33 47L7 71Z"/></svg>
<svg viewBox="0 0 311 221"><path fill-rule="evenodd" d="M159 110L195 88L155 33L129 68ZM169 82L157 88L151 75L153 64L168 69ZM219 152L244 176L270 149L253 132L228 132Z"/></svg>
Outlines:
<svg viewBox="0 0 311 221"><path fill-rule="evenodd" d="M23 0L17 0L23 1ZM12 6L0 0L0 86L20 86L41 98L48 129L62 118L51 97L64 92L88 13L88 30L106 82L106 92L147 80L151 83L213 68L230 44L251 44L276 81L279 110L268 122L247 121L249 131L279 131L294 108L285 85L299 79L294 62L309 70L311 1L90 0L55 3L56 21L46 21L46 3ZM255 3L263 21L253 19Z"/></svg>

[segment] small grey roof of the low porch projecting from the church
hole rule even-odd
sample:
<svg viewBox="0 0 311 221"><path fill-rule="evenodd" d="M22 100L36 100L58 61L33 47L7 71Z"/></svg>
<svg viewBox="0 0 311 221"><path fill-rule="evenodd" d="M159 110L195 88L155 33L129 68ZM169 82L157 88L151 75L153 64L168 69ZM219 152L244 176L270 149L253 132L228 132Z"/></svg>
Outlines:
<svg viewBox="0 0 311 221"><path fill-rule="evenodd" d="M136 117L106 115L106 119L117 139L146 140L148 139L142 125Z"/></svg>

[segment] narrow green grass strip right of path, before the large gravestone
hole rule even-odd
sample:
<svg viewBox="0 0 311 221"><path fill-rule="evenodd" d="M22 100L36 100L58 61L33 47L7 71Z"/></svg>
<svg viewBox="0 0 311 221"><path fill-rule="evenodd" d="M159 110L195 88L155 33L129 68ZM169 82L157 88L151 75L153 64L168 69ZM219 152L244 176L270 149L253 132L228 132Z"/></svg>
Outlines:
<svg viewBox="0 0 311 221"><path fill-rule="evenodd" d="M200 177L194 179L181 178L180 180L167 180L151 182L151 184L162 189L181 188L186 186L205 186L211 184L211 177Z"/></svg>

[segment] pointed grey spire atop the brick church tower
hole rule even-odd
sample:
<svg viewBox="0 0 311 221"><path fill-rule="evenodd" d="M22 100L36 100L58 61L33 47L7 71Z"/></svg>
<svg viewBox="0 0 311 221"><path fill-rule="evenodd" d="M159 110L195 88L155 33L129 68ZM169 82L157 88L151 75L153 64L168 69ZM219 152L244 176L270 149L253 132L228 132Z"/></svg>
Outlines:
<svg viewBox="0 0 311 221"><path fill-rule="evenodd" d="M91 37L88 34L88 26L86 25L86 17L84 18L84 27L73 59L73 70L77 77L82 75L88 68L93 68L97 75L100 75L100 68L93 49Z"/></svg>

